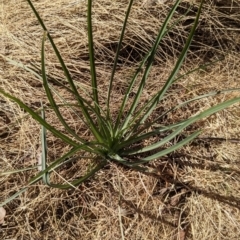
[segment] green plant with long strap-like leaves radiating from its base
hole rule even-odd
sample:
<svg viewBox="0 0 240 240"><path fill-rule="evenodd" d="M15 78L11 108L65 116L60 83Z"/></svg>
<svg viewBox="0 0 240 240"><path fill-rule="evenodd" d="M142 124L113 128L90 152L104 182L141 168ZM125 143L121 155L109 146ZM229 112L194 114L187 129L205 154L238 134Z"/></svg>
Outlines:
<svg viewBox="0 0 240 240"><path fill-rule="evenodd" d="M103 110L103 107L99 103L99 89L97 85L97 76L96 76L96 70L95 70L95 62L94 62L94 44L93 44L93 31L92 31L92 0L88 0L88 16L87 16L87 23L88 23L88 44L89 44L89 56L90 56L90 70L91 70L91 88L92 88L92 102L93 104L89 103L85 98L81 96L79 93L70 72L68 71L64 60L61 57L61 54L58 51L57 46L55 45L50 33L47 31L46 26L44 25L42 19L40 18L38 12L34 8L31 0L27 0L29 3L31 9L33 10L34 14L36 15L40 25L42 26L44 30L44 37L42 39L42 49L41 49L41 79L42 83L47 95L47 98L49 100L49 103L51 105L52 110L55 112L56 116L60 120L61 124L64 126L65 131L68 133L67 135L60 132L53 126L51 126L46 120L44 116L44 109L42 108L42 116L39 116L37 112L35 112L33 109L29 108L27 105L25 105L22 101L20 101L18 98L15 98L14 96L4 92L0 89L1 94L3 94L5 97L12 99L15 101L21 108L23 108L25 111L27 111L36 121L38 121L42 125L42 156L41 156L41 166L40 166L40 172L30 179L29 184L22 188L19 192L14 194L13 196L9 197L5 202L0 204L0 206L5 205L12 199L16 198L19 194L26 191L27 188L36 183L37 181L40 181L41 179L43 182L50 187L55 188L61 188L61 189L67 189L71 188L73 186L76 186L90 177L92 177L96 172L98 172L100 169L102 169L104 166L106 166L110 161L115 162L117 164L123 165L125 167L133 168L135 170L139 171L145 171L144 164L148 163L149 161L159 159L162 156L169 154L183 145L189 143L191 140L196 138L200 131L196 131L183 140L175 143L171 147L163 149L166 143L173 140L178 134L180 134L186 127L191 125L192 123L198 121L199 119L205 118L211 114L214 114L231 104L234 104L236 102L240 101L240 97L234 98L231 100L228 100L226 102L223 102L221 104L218 104L212 108L209 108L200 114L197 114L195 116L192 116L186 120L183 120L181 122L171 124L168 126L158 126L156 123L159 122L164 116L166 116L169 112L181 108L182 106L185 106L186 104L197 101L199 99L214 96L216 94L229 91L218 91L218 92L211 92L205 95L198 96L194 99L190 99L184 103L181 103L178 106L174 106L173 108L167 110L166 112L163 112L161 115L159 115L157 118L152 119L151 114L153 113L154 109L161 103L163 98L166 95L167 90L169 87L182 78L183 76L177 77L177 74L179 72L180 67L182 66L182 63L186 57L187 51L189 49L189 46L191 44L191 41L193 39L194 31L197 27L200 12L203 6L203 0L201 1L198 11L196 13L196 17L193 23L193 26L190 30L189 36L186 40L185 45L183 46L183 50L181 54L178 57L178 60L176 61L175 66L172 69L171 74L169 75L168 79L166 80L165 84L161 88L159 92L157 92L155 95L153 95L142 107L138 107L139 101L141 99L141 95L143 93L143 89L145 87L145 84L147 83L147 78L149 75L149 72L151 70L155 54L157 52L157 48L159 46L159 43L164 38L166 33L169 31L169 29L173 28L181 19L177 19L173 21L173 14L175 13L177 7L180 4L180 0L177 0L173 7L171 8L169 14L167 15L164 23L162 24L158 35L156 37L156 40L150 49L150 51L145 55L143 60L141 61L139 68L136 70L134 76L132 77L129 86L125 92L121 107L118 111L117 116L115 119L113 119L111 109L110 109L110 99L112 95L112 86L114 84L114 74L116 72L117 62L119 58L119 53L122 46L122 41L124 38L124 33L127 25L127 20L130 14L130 10L133 5L133 0L130 0L125 20L123 23L119 44L117 47L115 60L112 68L112 74L109 81L109 88L107 93L107 101L106 101L106 111ZM61 115L61 112L59 110L59 105L56 103L54 95L52 94L52 91L55 91L53 86L51 86L48 82L47 74L46 74L46 67L45 67L45 51L44 51L44 45L45 41L49 40L50 44L59 60L59 63L62 67L62 70L66 76L68 87L65 86L65 89L70 92L74 98L76 99L78 103L78 107L82 112L82 115L84 116L83 121L89 131L91 132L93 139L92 141L87 141L86 139L79 136L65 121L64 117ZM13 62L12 62L13 63ZM16 63L14 63L16 64ZM21 64L17 64L19 66L22 66ZM37 74L37 71L34 71L26 66L24 68L36 76L39 77ZM192 70L195 71L195 70ZM187 74L190 74L192 71L188 72ZM185 75L187 75L185 74ZM185 76L184 75L184 76ZM137 79L139 79L137 81ZM139 83L138 89L136 92L136 95L131 102L130 108L126 109L126 103L129 100L129 94L133 89L133 86ZM63 99L63 97L62 97ZM71 104L66 104L71 108ZM127 112L127 114L125 114ZM92 116L95 116L93 118ZM156 124L156 125L155 125ZM151 126L155 125L154 130L151 130ZM156 127L158 126L158 127ZM46 164L46 158L47 158L47 144L46 144L46 130L53 133L56 137L60 138L63 142L66 144L69 144L71 146L71 150L64 154L62 157L60 157L57 160L54 160L53 162L49 163L47 166ZM142 148L136 148L136 143L143 142L145 140L148 140L152 137L158 137L159 135L165 134L163 138L161 138L159 141L151 143L150 145ZM70 137L71 136L71 137ZM161 149L161 150L159 150ZM163 149L163 150L162 150ZM57 169L58 167L62 166L63 164L66 164L66 162L71 161L71 157L73 157L75 154L77 154L79 151L86 151L91 156L94 157L94 160L92 161L91 165L89 166L89 171L86 172L84 176L82 176L79 179L76 179L72 182L67 182L66 184L53 184L50 182L49 175L50 173ZM154 151L154 154L152 153ZM144 154L143 154L144 153ZM68 160L66 160L68 159ZM28 168L29 169L29 168ZM23 170L28 169L21 169L21 170L15 170L12 172L19 172ZM11 172L11 173L12 173ZM8 174L9 172L5 172L2 174Z"/></svg>

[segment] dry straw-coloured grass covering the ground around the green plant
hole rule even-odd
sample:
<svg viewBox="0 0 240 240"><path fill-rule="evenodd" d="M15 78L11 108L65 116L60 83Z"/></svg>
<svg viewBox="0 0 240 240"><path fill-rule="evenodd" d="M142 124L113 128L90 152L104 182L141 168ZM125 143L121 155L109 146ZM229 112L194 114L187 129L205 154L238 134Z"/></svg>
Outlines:
<svg viewBox="0 0 240 240"><path fill-rule="evenodd" d="M105 100L127 2L94 1L94 38L101 101ZM127 80L143 53L151 47L158 26L172 4L172 1L161 2L164 1L139 0L134 4L116 73L113 112L121 103ZM183 1L178 14L183 13L188 2ZM87 89L90 76L85 1L42 0L34 1L34 4L74 80L79 88ZM0 5L0 54L27 65L39 65L43 33L27 2L2 0ZM219 57L224 56L224 60L175 84L164 108L200 93L239 86L239 6L240 2L235 0L208 1L205 5L181 73ZM173 30L162 43L144 97L159 89L171 71L192 16L190 12L184 24ZM48 71L60 79L63 74L59 64L53 51L49 46L47 48ZM0 59L0 88L38 109L40 99L46 101L41 83L26 71ZM71 99L63 89L56 88ZM169 115L167 121L179 121L230 97L233 93L191 104ZM0 104L1 172L36 164L40 127L8 99L0 96ZM108 240L123 239L124 235L125 239L136 240L239 239L239 110L239 105L235 105L195 124L193 129L204 130L201 137L180 151L153 162L150 166L157 169L158 174L144 175L111 164L91 181L69 191L50 189L42 183L32 186L5 207L7 217L0 227L0 238ZM79 134L88 135L84 125L75 122L67 110L64 114ZM48 121L58 124L50 113ZM67 150L52 136L48 140L51 159ZM83 164L76 162L58 173L69 180L83 170ZM1 177L0 201L24 186L34 172ZM56 173L54 180L57 177Z"/></svg>

